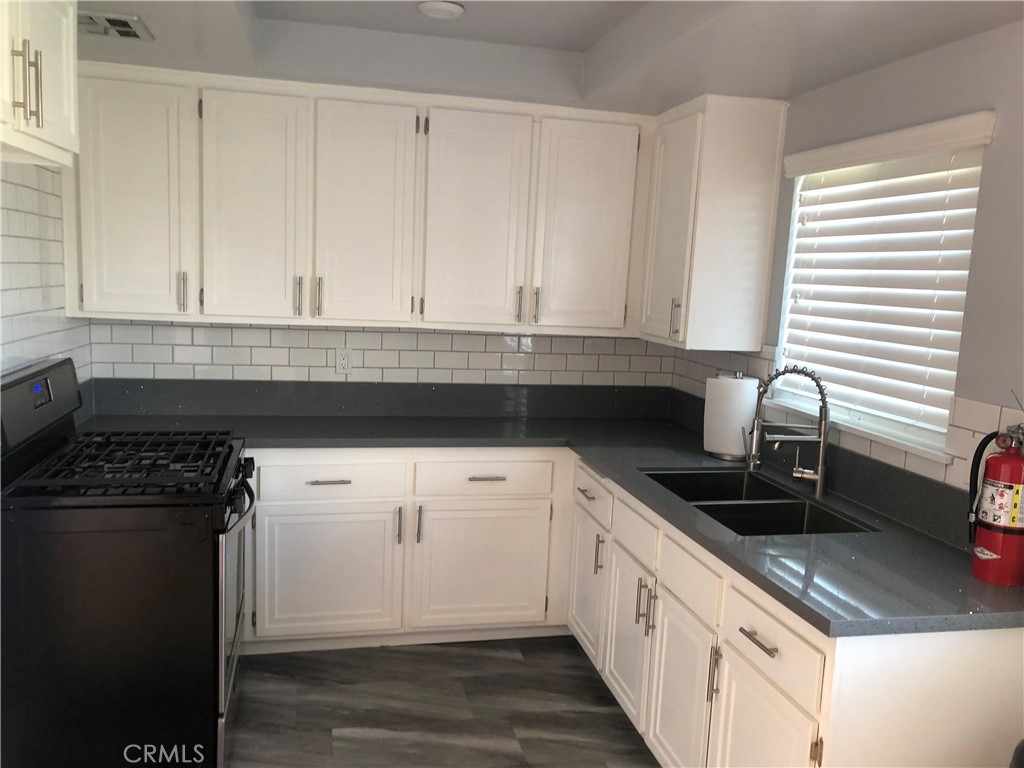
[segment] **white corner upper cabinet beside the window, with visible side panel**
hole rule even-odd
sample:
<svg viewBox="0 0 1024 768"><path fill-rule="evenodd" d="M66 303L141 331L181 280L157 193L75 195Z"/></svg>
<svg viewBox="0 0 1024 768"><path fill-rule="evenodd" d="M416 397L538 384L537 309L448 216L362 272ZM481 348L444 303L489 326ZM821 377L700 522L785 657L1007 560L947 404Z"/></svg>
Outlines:
<svg viewBox="0 0 1024 768"><path fill-rule="evenodd" d="M786 104L703 96L658 118L640 335L759 350Z"/></svg>

